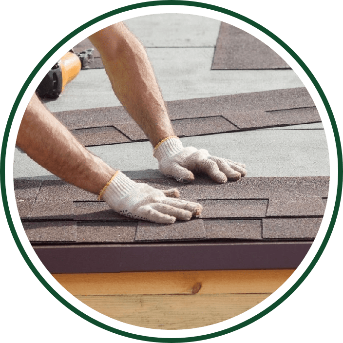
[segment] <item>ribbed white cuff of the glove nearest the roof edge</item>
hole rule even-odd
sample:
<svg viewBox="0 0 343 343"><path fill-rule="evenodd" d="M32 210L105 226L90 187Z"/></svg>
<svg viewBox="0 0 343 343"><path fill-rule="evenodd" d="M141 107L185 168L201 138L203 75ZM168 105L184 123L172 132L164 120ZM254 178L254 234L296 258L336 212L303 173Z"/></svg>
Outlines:
<svg viewBox="0 0 343 343"><path fill-rule="evenodd" d="M99 199L102 197L106 203L109 201L113 203L114 201L122 199L132 191L135 186L136 183L133 180L121 171L117 171L100 192Z"/></svg>

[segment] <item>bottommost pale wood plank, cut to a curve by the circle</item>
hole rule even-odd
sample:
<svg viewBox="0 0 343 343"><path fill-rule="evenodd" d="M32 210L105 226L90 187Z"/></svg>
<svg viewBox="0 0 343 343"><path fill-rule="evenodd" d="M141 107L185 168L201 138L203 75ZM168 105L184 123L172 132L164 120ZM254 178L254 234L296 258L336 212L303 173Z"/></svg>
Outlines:
<svg viewBox="0 0 343 343"><path fill-rule="evenodd" d="M270 294L78 296L79 301L120 322L152 329L191 329L238 316Z"/></svg>

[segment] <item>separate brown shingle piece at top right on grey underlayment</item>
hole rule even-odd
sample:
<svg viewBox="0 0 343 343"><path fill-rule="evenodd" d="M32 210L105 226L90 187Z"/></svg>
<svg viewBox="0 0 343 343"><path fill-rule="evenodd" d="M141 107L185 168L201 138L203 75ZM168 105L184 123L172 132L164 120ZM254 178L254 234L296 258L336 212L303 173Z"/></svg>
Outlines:
<svg viewBox="0 0 343 343"><path fill-rule="evenodd" d="M289 69L286 61L264 42L222 22L211 69Z"/></svg>

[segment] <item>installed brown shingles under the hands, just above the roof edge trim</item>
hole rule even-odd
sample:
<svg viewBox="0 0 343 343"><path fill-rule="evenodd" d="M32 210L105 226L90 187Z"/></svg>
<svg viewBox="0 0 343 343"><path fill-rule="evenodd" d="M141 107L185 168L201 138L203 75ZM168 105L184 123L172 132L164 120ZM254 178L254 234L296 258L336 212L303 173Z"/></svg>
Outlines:
<svg viewBox="0 0 343 343"><path fill-rule="evenodd" d="M181 198L201 203L204 210L197 219L171 225L137 222L98 202L94 194L64 181L43 180L36 200L17 198L19 215L32 242L58 242L58 234L60 242L72 242L76 226L77 243L308 240L318 232L329 190L329 177L324 176L244 177L225 184L202 177L191 184L175 185L168 178L138 182L164 190L176 186ZM19 196L32 189L31 183L26 191L23 183L16 184ZM36 226L39 230L32 231Z"/></svg>

